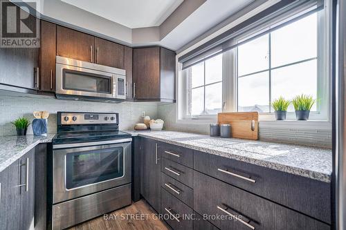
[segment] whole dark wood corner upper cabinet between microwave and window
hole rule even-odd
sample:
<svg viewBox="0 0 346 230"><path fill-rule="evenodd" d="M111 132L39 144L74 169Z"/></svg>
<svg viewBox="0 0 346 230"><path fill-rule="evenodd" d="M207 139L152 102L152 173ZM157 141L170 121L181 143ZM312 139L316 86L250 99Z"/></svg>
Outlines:
<svg viewBox="0 0 346 230"><path fill-rule="evenodd" d="M175 100L175 52L161 47L134 48L134 99Z"/></svg>

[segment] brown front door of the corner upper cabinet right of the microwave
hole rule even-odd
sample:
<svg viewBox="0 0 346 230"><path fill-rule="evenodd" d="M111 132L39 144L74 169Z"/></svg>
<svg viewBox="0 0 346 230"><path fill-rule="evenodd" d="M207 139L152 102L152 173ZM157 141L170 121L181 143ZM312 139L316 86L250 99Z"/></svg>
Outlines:
<svg viewBox="0 0 346 230"><path fill-rule="evenodd" d="M160 48L134 49L134 98L160 98Z"/></svg>

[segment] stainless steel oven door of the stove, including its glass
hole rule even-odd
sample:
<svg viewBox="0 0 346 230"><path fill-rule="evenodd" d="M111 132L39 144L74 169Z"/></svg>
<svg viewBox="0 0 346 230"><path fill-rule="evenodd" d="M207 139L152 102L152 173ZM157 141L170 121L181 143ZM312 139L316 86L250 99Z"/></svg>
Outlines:
<svg viewBox="0 0 346 230"><path fill-rule="evenodd" d="M53 150L54 204L130 182L131 142Z"/></svg>

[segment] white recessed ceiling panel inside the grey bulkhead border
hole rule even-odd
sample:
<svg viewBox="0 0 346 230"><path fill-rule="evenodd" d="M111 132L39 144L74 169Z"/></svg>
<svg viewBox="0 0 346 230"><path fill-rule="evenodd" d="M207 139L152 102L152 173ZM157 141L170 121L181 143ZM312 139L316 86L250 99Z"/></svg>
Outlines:
<svg viewBox="0 0 346 230"><path fill-rule="evenodd" d="M62 0L128 28L160 26L183 0Z"/></svg>

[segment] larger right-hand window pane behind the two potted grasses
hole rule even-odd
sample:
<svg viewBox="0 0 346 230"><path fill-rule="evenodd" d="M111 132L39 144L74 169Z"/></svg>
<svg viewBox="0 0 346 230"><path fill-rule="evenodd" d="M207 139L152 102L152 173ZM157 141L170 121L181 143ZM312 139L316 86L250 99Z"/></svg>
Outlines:
<svg viewBox="0 0 346 230"><path fill-rule="evenodd" d="M238 111L271 113L280 96L317 98L317 28L314 13L237 48Z"/></svg>

